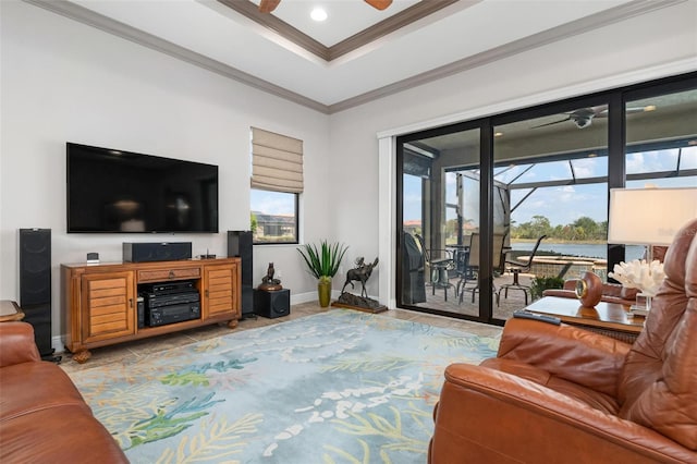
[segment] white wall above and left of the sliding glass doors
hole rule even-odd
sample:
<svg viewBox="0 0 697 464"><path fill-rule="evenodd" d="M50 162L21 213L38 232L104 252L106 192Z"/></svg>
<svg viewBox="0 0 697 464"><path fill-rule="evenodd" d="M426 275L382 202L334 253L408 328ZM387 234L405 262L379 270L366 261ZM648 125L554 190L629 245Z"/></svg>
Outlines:
<svg viewBox="0 0 697 464"><path fill-rule="evenodd" d="M655 66L664 68L658 72L643 71ZM386 172L379 173L379 133L398 135L472 120L644 82L675 73L675 70L697 70L696 1L571 37L333 114L330 145L337 191L334 234L338 240L350 243L354 253L359 251L356 254L381 257L380 267L374 273L378 277L371 277L369 282L369 293L379 294L381 303L393 307L393 279L388 271L394 266L394 243L391 241L394 221L388 212L394 205L392 202L387 211L379 211L379 207L394 197L383 195L382 204L378 202L379 188L393 181L393 172L387 169L390 162L382 160ZM387 151L380 156L393 156L389 143L383 147ZM357 230L354 224L360 224L362 229Z"/></svg>

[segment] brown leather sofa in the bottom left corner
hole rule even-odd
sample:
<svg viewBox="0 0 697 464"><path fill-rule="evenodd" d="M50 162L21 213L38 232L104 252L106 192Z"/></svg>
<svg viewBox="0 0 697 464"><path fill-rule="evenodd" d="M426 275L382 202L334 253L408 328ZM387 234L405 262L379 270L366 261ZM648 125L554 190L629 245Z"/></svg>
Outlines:
<svg viewBox="0 0 697 464"><path fill-rule="evenodd" d="M127 462L68 375L41 361L33 327L0 323L0 463Z"/></svg>

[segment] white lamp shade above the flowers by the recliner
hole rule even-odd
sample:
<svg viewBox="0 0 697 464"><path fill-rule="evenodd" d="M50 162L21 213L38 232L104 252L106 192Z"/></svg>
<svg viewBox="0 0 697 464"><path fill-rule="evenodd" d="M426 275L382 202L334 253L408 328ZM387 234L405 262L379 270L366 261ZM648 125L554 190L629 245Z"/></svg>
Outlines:
<svg viewBox="0 0 697 464"><path fill-rule="evenodd" d="M608 243L670 245L697 218L697 188L611 188Z"/></svg>

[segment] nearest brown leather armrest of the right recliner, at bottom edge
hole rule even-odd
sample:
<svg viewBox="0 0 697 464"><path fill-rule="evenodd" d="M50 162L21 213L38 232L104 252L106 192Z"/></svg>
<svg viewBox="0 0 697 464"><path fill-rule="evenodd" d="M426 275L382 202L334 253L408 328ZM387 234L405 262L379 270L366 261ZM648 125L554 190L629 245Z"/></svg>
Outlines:
<svg viewBox="0 0 697 464"><path fill-rule="evenodd" d="M694 462L655 430L535 382L453 364L436 412L429 463Z"/></svg>

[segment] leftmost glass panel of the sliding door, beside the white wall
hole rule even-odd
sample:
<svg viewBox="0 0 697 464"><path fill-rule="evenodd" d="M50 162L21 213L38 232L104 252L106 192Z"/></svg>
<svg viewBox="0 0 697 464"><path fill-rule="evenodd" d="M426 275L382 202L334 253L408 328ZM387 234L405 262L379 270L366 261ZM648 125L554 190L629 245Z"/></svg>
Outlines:
<svg viewBox="0 0 697 464"><path fill-rule="evenodd" d="M480 137L479 127L454 127L401 143L400 306L479 318L462 289L478 266L470 243L481 217Z"/></svg>

